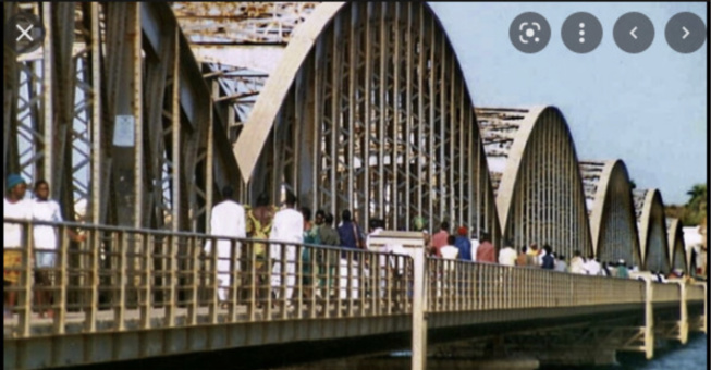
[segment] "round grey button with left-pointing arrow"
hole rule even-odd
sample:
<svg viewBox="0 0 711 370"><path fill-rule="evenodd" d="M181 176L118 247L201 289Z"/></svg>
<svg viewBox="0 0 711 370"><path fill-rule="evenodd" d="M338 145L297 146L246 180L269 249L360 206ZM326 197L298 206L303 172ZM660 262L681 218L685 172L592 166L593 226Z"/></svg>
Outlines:
<svg viewBox="0 0 711 370"><path fill-rule="evenodd" d="M612 30L617 47L628 53L639 53L654 40L654 25L647 15L629 12L615 22Z"/></svg>

